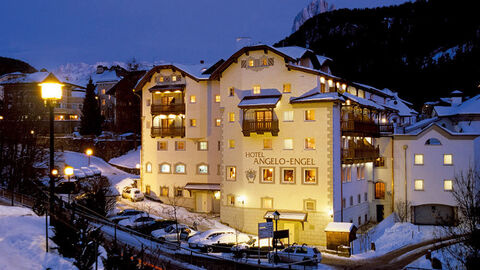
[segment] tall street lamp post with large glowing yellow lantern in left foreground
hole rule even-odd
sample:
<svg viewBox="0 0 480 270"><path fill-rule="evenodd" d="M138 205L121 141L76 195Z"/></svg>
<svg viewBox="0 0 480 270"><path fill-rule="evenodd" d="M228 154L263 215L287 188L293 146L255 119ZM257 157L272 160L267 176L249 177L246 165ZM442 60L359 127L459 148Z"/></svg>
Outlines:
<svg viewBox="0 0 480 270"><path fill-rule="evenodd" d="M53 129L53 107L56 101L62 98L62 86L63 84L53 75L53 73L49 73L48 76L39 84L41 88L41 97L45 101L48 110L49 110L49 122L50 122L50 168L49 168L49 175L50 175L50 216L53 216L53 204L54 204L54 185L55 185L55 175L56 172L58 174L58 170L54 169L54 129ZM50 219L51 219L50 217ZM50 221L51 223L51 221ZM48 232L47 232L48 233ZM48 238L47 238L48 244ZM48 249L47 249L48 251Z"/></svg>

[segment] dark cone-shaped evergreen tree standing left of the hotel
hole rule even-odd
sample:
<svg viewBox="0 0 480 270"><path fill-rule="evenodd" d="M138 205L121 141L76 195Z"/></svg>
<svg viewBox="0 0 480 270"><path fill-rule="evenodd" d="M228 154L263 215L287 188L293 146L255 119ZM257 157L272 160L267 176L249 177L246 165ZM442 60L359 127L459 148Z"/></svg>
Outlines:
<svg viewBox="0 0 480 270"><path fill-rule="evenodd" d="M83 100L80 134L98 136L102 133L102 123L103 116L100 114L100 107L97 99L95 99L95 85L90 79Z"/></svg>

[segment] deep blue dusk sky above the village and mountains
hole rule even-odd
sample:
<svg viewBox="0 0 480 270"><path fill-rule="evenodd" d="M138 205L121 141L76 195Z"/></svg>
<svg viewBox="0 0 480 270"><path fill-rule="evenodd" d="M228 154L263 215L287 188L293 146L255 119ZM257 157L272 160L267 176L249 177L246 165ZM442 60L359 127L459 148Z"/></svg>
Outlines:
<svg viewBox="0 0 480 270"><path fill-rule="evenodd" d="M0 56L40 69L66 63L225 58L235 38L272 44L311 0L3 0ZM337 8L406 0L327 0Z"/></svg>

